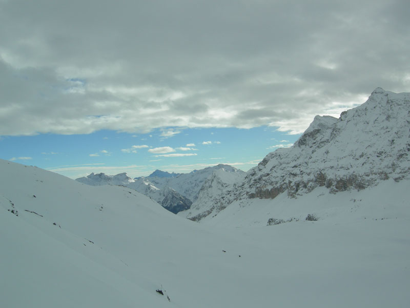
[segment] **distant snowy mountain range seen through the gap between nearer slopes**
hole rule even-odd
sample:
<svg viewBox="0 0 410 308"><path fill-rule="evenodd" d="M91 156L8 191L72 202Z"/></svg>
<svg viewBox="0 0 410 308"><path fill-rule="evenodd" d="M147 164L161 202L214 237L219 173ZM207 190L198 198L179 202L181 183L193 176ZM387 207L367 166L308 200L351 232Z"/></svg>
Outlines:
<svg viewBox="0 0 410 308"><path fill-rule="evenodd" d="M143 195L150 197L172 213L177 214L191 207L198 199L203 185L214 175L218 175L220 187L226 187L235 180L242 178L245 172L229 165L219 164L201 170L194 170L189 174L175 174L172 172L155 170L148 177L132 179L126 173L109 176L104 173L90 174L78 178L76 181L92 185L123 185ZM215 199L215 198L213 198Z"/></svg>

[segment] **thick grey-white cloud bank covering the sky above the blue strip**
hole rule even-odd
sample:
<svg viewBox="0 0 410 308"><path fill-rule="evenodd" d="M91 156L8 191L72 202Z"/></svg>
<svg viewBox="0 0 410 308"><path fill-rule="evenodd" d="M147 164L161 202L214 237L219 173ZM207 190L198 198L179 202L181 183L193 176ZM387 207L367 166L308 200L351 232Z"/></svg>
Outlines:
<svg viewBox="0 0 410 308"><path fill-rule="evenodd" d="M316 114L338 116L377 86L407 91L408 1L323 3L257 1L249 15L246 2L177 2L147 22L134 14L157 11L156 2L107 2L96 16L96 0L70 7L9 1L0 18L8 29L0 135L180 127L164 129L168 138L183 127L263 125L301 133ZM216 4L210 25L203 12ZM24 31L14 26L28 21Z"/></svg>

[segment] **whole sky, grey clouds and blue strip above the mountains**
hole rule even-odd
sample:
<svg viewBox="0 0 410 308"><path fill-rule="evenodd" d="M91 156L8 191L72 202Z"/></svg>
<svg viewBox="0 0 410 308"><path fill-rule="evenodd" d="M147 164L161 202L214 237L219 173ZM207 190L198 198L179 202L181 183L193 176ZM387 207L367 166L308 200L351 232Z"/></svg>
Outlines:
<svg viewBox="0 0 410 308"><path fill-rule="evenodd" d="M0 158L71 178L248 170L410 91L408 1L0 0Z"/></svg>

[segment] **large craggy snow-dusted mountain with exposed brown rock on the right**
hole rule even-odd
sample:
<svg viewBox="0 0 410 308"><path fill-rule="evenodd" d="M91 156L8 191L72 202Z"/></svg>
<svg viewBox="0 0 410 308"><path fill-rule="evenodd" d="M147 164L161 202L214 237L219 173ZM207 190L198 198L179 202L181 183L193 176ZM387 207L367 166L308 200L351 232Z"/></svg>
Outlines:
<svg viewBox="0 0 410 308"><path fill-rule="evenodd" d="M282 194L300 198L320 187L335 194L399 182L410 174L409 124L410 93L376 88L338 119L317 115L292 147L269 153L242 181L219 191L213 207L205 198L193 205L195 215L180 215L199 221L239 201L245 207Z"/></svg>

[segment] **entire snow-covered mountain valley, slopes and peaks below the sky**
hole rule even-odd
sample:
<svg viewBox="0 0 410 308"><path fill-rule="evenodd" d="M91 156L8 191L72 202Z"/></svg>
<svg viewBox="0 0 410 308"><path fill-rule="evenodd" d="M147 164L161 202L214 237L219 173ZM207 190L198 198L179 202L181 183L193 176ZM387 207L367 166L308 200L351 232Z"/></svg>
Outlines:
<svg viewBox="0 0 410 308"><path fill-rule="evenodd" d="M406 307L409 153L410 93L376 88L247 172L0 160L2 304Z"/></svg>

